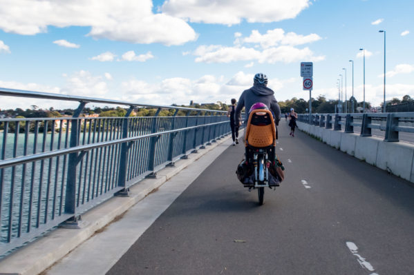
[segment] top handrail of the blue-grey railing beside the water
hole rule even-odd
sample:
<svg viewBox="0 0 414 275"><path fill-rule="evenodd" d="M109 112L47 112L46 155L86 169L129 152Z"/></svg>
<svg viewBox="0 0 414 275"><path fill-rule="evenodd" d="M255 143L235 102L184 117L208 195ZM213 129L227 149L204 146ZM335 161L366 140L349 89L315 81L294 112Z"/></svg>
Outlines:
<svg viewBox="0 0 414 275"><path fill-rule="evenodd" d="M209 109L200 109L200 108L186 108L186 107L179 107L179 106L167 106L167 105L151 105L151 104L143 104L143 103L135 103L135 102L128 102L128 101L115 101L109 99L99 99L93 97L86 97L86 96L70 96L64 94L53 94L48 92L35 92L35 91L28 91L28 90L16 90L16 89L8 89L8 88L0 88L0 95L3 96L19 96L19 97L30 97L35 99L55 99L55 100L62 100L62 101L78 101L78 102L86 102L86 103L104 103L104 104L118 104L118 105L126 105L126 106L134 106L134 107L141 107L141 108L162 108L162 109L178 109L178 110L187 110L187 111L203 111L203 112L218 112L218 113L225 113L227 111L220 111L220 110L209 110Z"/></svg>

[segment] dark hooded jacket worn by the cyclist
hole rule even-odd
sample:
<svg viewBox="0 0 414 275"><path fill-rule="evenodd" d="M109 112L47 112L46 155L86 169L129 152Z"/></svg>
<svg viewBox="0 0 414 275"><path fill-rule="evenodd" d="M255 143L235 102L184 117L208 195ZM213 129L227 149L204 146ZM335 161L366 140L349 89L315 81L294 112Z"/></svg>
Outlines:
<svg viewBox="0 0 414 275"><path fill-rule="evenodd" d="M281 108L274 98L274 92L265 85L258 83L254 83L252 88L243 91L240 99L238 99L236 112L234 113L234 121L236 125L238 125L241 120L241 110L243 107L245 107L248 118L250 108L254 103L258 102L265 103L267 105L267 108L269 108L269 110L271 110L274 114L274 121L276 121L276 125L279 125L279 121L281 120ZM245 123L247 123L247 119Z"/></svg>

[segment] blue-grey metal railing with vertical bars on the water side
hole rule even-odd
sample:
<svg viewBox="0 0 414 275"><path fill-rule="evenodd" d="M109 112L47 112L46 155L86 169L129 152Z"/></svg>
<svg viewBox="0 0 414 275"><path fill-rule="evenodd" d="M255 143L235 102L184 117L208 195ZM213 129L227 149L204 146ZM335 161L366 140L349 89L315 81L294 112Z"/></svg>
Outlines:
<svg viewBox="0 0 414 275"><path fill-rule="evenodd" d="M0 95L79 101L73 117L0 119L0 254L71 221L230 131L225 111L0 88ZM129 106L124 117L81 117L87 103ZM130 116L134 108L155 116ZM158 116L160 110L173 116ZM178 116L178 111L186 116ZM190 115L196 114L196 115Z"/></svg>

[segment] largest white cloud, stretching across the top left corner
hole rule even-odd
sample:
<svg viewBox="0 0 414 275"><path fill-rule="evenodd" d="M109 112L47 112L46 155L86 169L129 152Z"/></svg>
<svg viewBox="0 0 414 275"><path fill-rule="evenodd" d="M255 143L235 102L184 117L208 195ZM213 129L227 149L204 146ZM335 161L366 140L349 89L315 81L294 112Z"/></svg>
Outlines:
<svg viewBox="0 0 414 275"><path fill-rule="evenodd" d="M48 26L91 27L94 38L130 43L182 45L198 37L182 19L152 12L151 0L27 1L13 0L0 9L0 29L33 35L47 32Z"/></svg>

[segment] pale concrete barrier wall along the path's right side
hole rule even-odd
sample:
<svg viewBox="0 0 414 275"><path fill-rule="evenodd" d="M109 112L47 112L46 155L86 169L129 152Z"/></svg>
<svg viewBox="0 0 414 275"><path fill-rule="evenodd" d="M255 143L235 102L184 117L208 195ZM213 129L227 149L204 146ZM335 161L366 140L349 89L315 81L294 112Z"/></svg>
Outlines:
<svg viewBox="0 0 414 275"><path fill-rule="evenodd" d="M414 183L414 145L384 142L374 136L360 136L297 122L299 130L320 139L357 159Z"/></svg>

